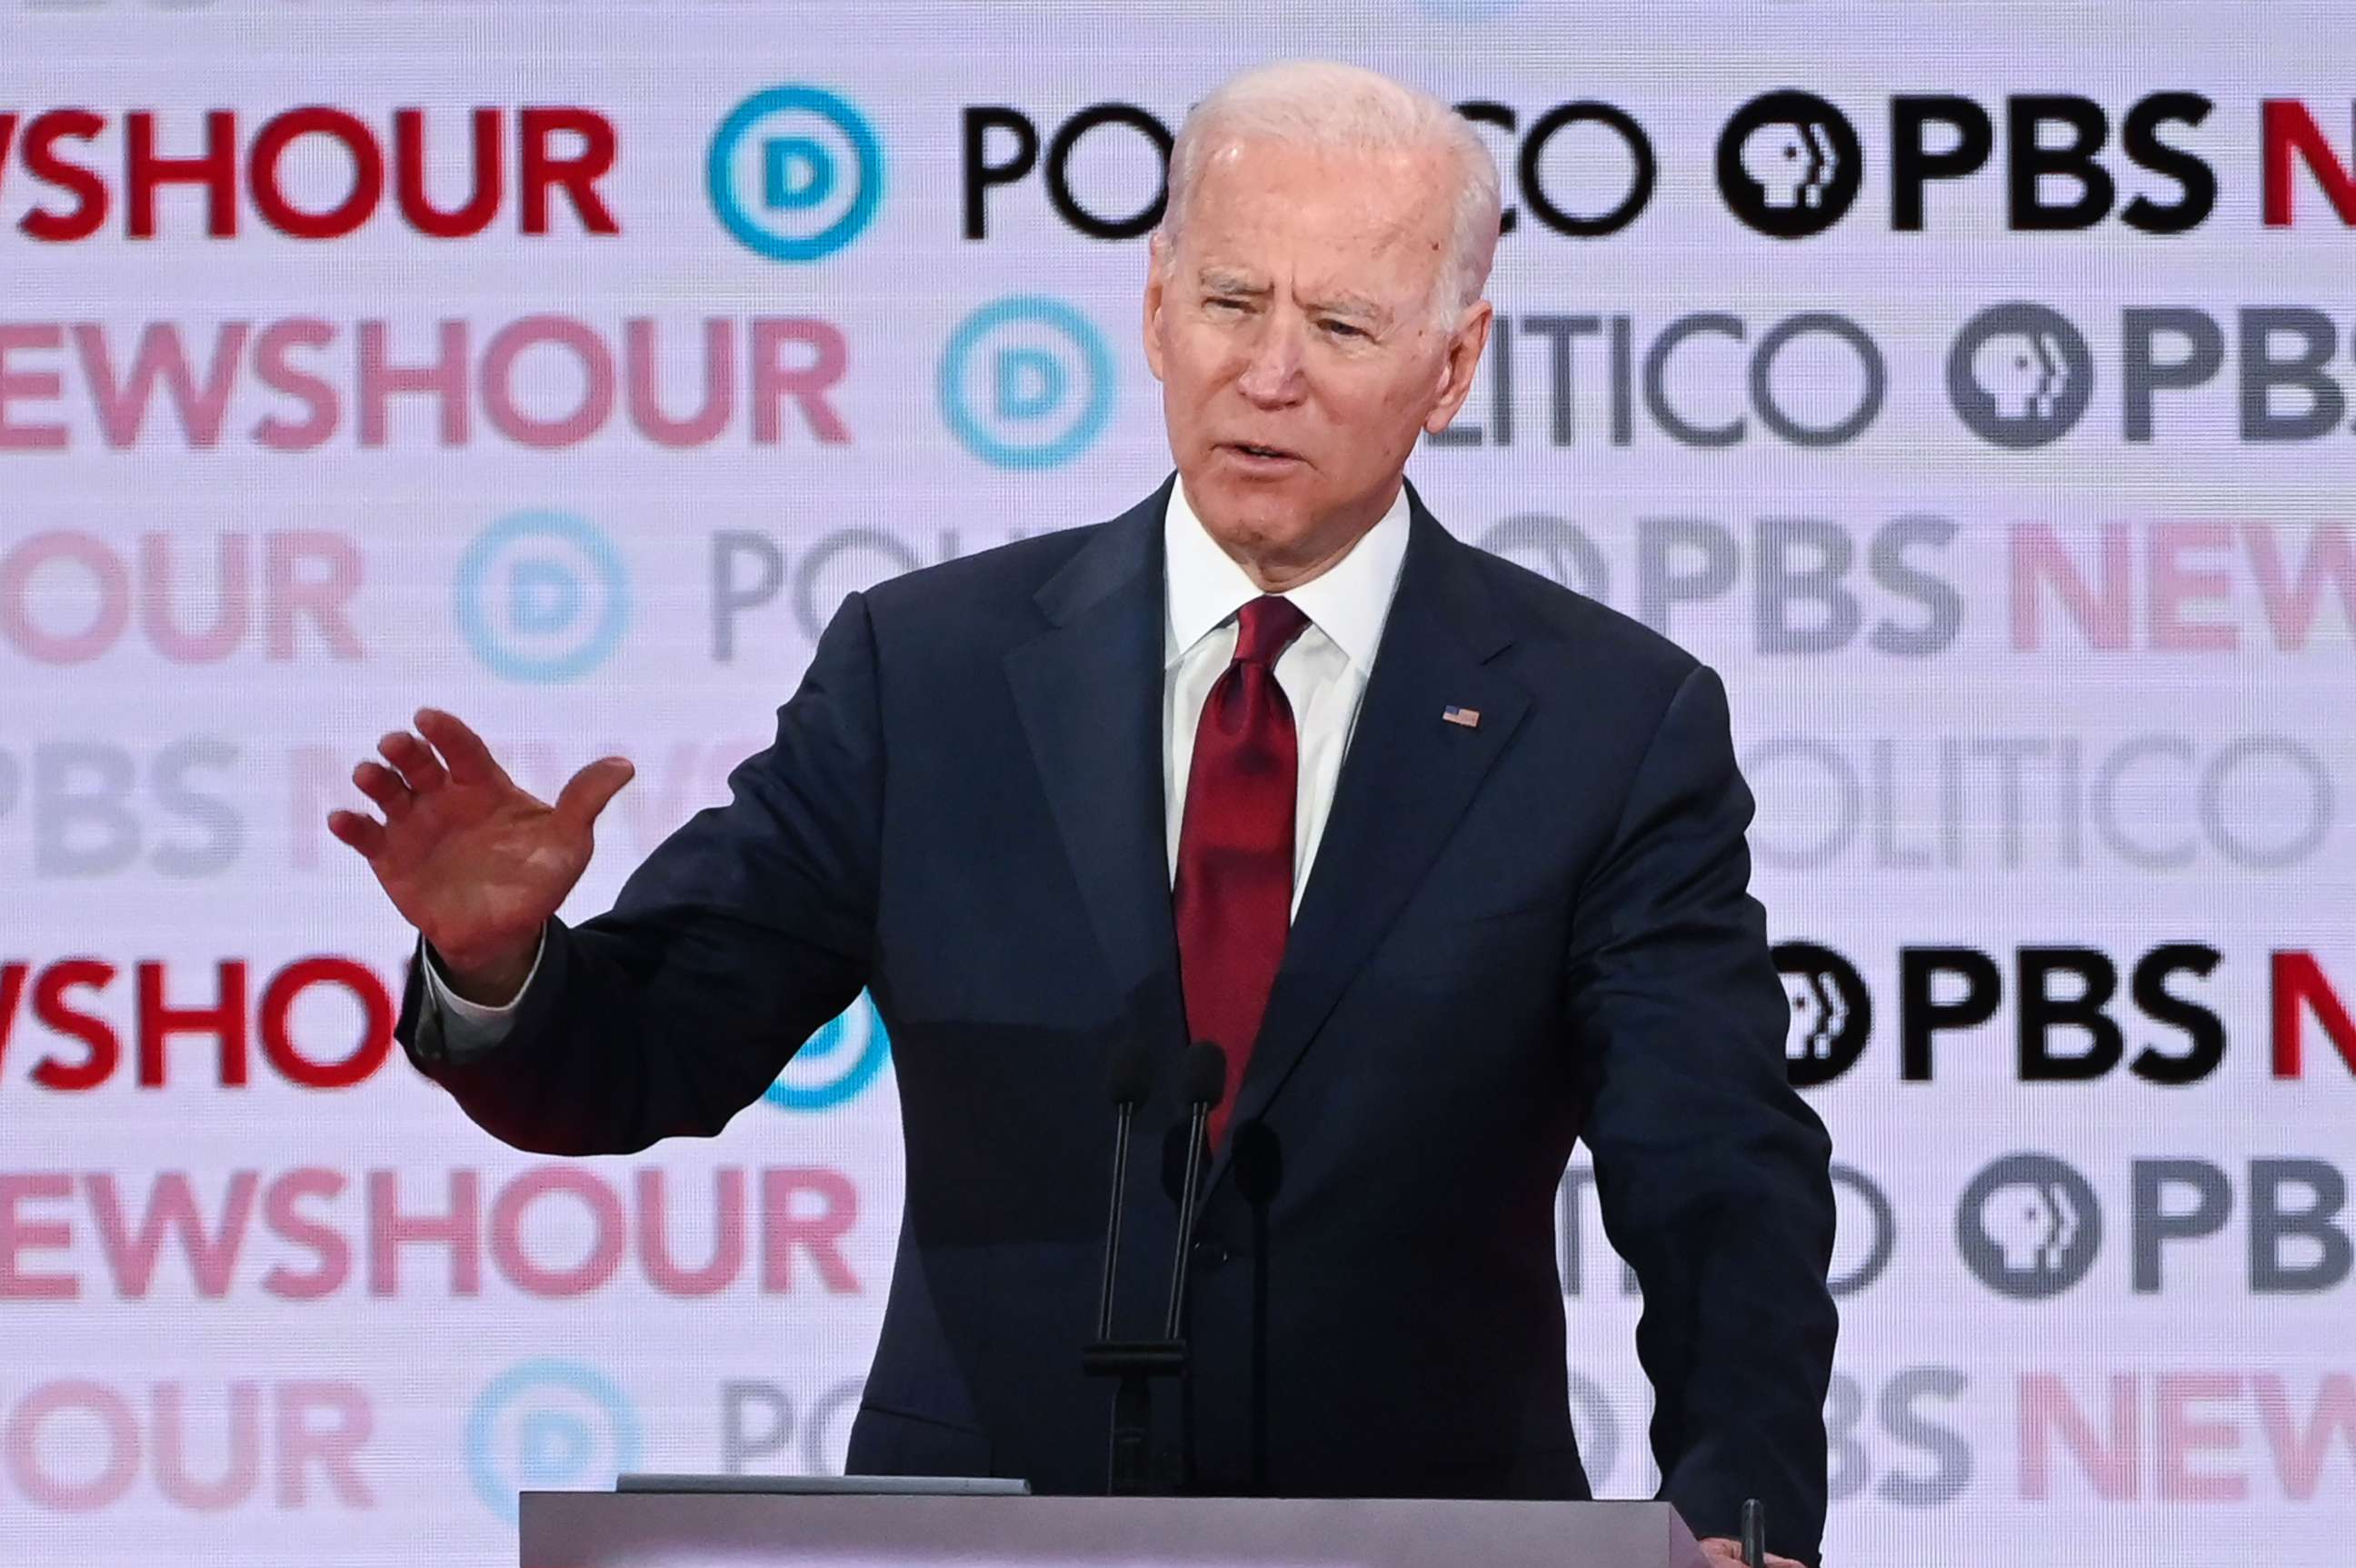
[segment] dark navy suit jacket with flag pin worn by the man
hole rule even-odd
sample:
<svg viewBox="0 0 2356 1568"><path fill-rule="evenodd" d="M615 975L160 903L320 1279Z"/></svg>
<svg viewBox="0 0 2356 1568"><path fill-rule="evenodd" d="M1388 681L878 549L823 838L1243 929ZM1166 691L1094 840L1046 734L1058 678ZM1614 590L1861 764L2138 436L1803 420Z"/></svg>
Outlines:
<svg viewBox="0 0 2356 1568"><path fill-rule="evenodd" d="M1159 1333L1162 1128L1185 1045L1162 803L1162 513L851 596L777 739L622 888L551 921L509 1038L398 1036L521 1149L714 1135L869 986L907 1208L855 1471L1105 1486L1093 1335L1107 1059L1164 1062L1133 1151L1117 1333ZM1595 1156L1644 1293L1663 1495L1696 1533L1762 1497L1814 1556L1835 1316L1831 1147L1783 1071L1746 892L1751 793L1718 678L1644 626L1451 539L1407 560L1194 1238L1187 1398L1157 1460L1202 1490L1586 1497L1555 1194ZM1477 725L1444 723L1449 706ZM1272 1194L1260 1189L1275 1184ZM1246 1191L1251 1189L1251 1191ZM1246 1196L1253 1201L1246 1203Z"/></svg>

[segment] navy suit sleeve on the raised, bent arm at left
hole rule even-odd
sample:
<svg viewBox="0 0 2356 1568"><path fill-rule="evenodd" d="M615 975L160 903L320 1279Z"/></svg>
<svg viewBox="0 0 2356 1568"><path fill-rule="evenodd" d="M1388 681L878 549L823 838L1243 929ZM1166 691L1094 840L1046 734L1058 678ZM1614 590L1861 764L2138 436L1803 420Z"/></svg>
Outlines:
<svg viewBox="0 0 2356 1568"><path fill-rule="evenodd" d="M622 885L551 918L507 1036L443 1038L410 965L396 1038L478 1125L540 1154L709 1137L848 1008L874 946L884 732L874 629L853 593L818 640L775 742L728 775Z"/></svg>

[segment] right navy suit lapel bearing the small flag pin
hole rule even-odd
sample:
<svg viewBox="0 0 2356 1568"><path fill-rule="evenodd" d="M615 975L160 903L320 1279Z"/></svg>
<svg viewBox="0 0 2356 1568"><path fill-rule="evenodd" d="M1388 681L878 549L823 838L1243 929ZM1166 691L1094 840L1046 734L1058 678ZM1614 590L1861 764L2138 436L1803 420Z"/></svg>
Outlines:
<svg viewBox="0 0 2356 1568"><path fill-rule="evenodd" d="M1399 586L1235 1123L1260 1116L1284 1088L1529 709L1529 692L1489 664L1513 629L1468 558L1472 546L1451 539L1414 487L1409 513ZM1447 723L1451 706L1480 723ZM1223 1147L1213 1184L1225 1168Z"/></svg>

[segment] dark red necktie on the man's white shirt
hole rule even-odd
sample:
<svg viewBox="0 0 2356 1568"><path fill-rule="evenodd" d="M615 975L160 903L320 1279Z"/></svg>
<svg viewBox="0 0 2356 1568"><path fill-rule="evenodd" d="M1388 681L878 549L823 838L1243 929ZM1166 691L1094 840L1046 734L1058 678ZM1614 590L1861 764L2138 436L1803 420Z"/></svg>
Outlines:
<svg viewBox="0 0 2356 1568"><path fill-rule="evenodd" d="M1187 768L1171 902L1187 1036L1227 1052L1213 1147L1227 1132L1293 916L1301 742L1275 664L1308 624L1289 598L1263 596L1237 612L1235 664L1202 704Z"/></svg>

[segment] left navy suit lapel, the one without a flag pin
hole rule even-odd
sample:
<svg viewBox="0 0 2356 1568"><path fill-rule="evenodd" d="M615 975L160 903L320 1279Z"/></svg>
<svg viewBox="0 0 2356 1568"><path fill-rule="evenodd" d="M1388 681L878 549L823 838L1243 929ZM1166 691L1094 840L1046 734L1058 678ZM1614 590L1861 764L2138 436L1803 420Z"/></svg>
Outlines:
<svg viewBox="0 0 2356 1568"><path fill-rule="evenodd" d="M1048 629L1006 655L1088 921L1138 1038L1185 1043L1162 800L1162 513L1169 480L1037 593Z"/></svg>

